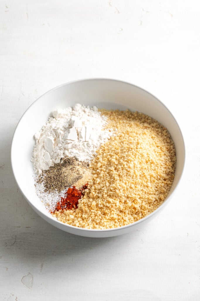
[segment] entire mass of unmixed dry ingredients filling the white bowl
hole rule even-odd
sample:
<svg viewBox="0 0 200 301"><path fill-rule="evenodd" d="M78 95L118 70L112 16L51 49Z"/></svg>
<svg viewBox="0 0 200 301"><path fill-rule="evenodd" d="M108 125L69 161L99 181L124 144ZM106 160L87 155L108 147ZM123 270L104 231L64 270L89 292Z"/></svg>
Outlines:
<svg viewBox="0 0 200 301"><path fill-rule="evenodd" d="M164 126L142 113L79 104L53 116L35 135L32 157L37 195L53 216L76 227L107 229L160 206L176 166Z"/></svg>

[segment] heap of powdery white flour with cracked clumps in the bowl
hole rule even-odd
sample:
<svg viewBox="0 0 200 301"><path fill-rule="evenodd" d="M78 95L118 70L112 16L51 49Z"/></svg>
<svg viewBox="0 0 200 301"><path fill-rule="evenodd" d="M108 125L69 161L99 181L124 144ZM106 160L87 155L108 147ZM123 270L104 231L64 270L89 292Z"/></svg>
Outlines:
<svg viewBox="0 0 200 301"><path fill-rule="evenodd" d="M35 134L31 159L34 172L40 175L66 156L90 162L112 135L112 130L103 130L106 119L97 107L81 104L54 111L53 117Z"/></svg>

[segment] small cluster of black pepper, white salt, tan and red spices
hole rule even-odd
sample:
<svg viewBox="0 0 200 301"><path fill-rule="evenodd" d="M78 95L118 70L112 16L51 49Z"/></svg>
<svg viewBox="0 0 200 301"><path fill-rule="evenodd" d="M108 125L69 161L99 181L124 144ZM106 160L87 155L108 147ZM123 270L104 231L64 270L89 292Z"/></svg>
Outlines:
<svg viewBox="0 0 200 301"><path fill-rule="evenodd" d="M65 204L65 201L68 201L67 195L79 190L81 192L79 198L81 198L87 188L85 183L90 178L91 171L88 169L87 162L78 161L74 157L64 158L61 163L51 166L43 171L42 175L37 176L36 192L51 213L58 211L58 208L72 209L73 206L69 206L70 203ZM79 198L76 200L77 204Z"/></svg>

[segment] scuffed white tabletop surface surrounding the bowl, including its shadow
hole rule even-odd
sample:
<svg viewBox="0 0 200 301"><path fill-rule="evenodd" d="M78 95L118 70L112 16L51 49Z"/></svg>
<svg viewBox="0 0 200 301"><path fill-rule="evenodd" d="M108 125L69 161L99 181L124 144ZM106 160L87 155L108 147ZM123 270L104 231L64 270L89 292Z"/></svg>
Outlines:
<svg viewBox="0 0 200 301"><path fill-rule="evenodd" d="M200 4L190 0L0 1L0 300L200 300ZM91 239L30 208L10 165L14 129L64 82L125 80L177 119L186 168L149 224Z"/></svg>

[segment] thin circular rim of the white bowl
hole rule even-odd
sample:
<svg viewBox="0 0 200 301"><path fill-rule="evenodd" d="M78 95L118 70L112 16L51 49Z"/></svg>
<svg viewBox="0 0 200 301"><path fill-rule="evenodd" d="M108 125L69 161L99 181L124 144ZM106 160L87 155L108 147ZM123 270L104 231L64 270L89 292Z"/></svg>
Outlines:
<svg viewBox="0 0 200 301"><path fill-rule="evenodd" d="M15 171L14 171L14 168L13 168L13 159L12 159L12 154L13 154L13 141L14 141L14 137L15 137L15 135L16 135L16 132L17 132L17 129L18 129L18 127L19 127L19 123L21 122L21 120L22 120L22 118L23 118L23 116L26 114L26 112L28 111L28 110L30 110L31 109L31 107L37 102L37 101L39 101L40 100L40 98L42 98L44 95L48 95L49 93L51 93L51 92L53 92L54 90L57 90L58 88L61 88L61 87L63 87L63 86L65 86L65 85L70 85L70 84L73 84L73 83L76 83L76 82L84 82L84 81L91 81L91 80L97 80L97 81L112 81L112 82L121 82L121 83L123 83L123 84L127 84L127 85L131 85L131 86L134 86L134 87L136 87L136 88L139 88L140 90L142 90L142 91L144 91L144 92L146 92L146 93L148 93L149 95L151 95L151 96L153 96L154 98L155 98L155 100L157 101L157 102L160 102L165 108L166 108L166 110L168 110L169 111L169 113L172 115L172 117L173 117L173 119L175 120L175 122L176 122L176 124L177 124L177 126L178 126L178 129L179 129L179 131L180 131L180 133L181 133L181 136L182 136L182 140L183 140L183 153L184 153L184 162L183 162L183 169L182 169L182 172L181 172L181 175L180 175L180 178L179 178L179 180L178 180L178 182L177 182L177 185L175 186L175 188L174 188L174 190L173 190L173 192L172 192L172 194L168 197L166 197L166 199L163 201L163 203L157 208L157 209L155 209L152 213L150 213L149 215L147 215L147 216L145 216L145 217L143 217L142 219L139 219L138 221L136 221L136 222L133 222L133 223L131 223L131 224L128 224L128 225L124 225L124 226L120 226L120 227L117 227L117 228L109 228L109 229L87 229L87 228L79 228L79 227L75 227L75 226L72 226L72 225L69 225L69 224L65 224L65 223L63 223L63 222L60 222L60 221L58 221L57 219L55 219L53 216L49 216L49 215L46 215L46 214L44 214L43 212L41 212L40 211L40 209L38 209L30 200L28 200L28 198L25 196L25 194L22 192L22 189L20 188L20 185L19 185L19 183L18 183L18 181L17 181L17 177L16 177L16 174L15 174ZM149 218L151 218L152 216L154 216L154 214L156 214L156 213L158 213L161 209L163 209L163 207L166 205L166 203L168 203L169 202L169 200L172 198L172 196L175 194L175 191L176 191L176 189L177 189L177 187L178 187L178 185L180 184L180 181L181 181L181 178L182 178L182 176L183 176L183 174L184 174L184 170L185 170L185 162L186 162L186 147L185 147L185 142L184 142L184 136L183 136L183 133L182 133L182 131L181 131L181 128L180 128L180 126L179 126L179 124L178 124L178 122L177 122L177 120L175 119L175 117L174 117L174 115L171 113L171 111L166 107L166 105L165 104L163 104L163 102L162 101L160 101L160 99L158 99L156 96L154 96L152 93L150 93L150 92L148 92L147 90L145 90L145 89L143 89L143 88L141 88L141 87L139 87L139 86L137 86L137 85L134 85L134 84L132 84L132 83L130 83L130 82L126 82L126 81L123 81L123 80L119 80L119 79L110 79L110 78L103 78L103 77L95 77L95 78L86 78L86 79L76 79L76 80L72 80L72 81L69 81L69 82L65 82L65 83L63 83L63 84L61 84L61 85L58 85L58 86L56 86L56 87L54 87L54 88L52 88L52 89L50 89L50 90L48 90L47 92L45 92L45 93L43 93L42 95L40 95L26 110L25 110L25 112L22 114L22 116L21 116L21 118L19 119L19 121L18 121L18 123L17 123L17 125L16 125L16 128L15 128L15 130L14 130L14 133L13 133L13 137L12 137L12 142L11 142L11 150L10 150L10 159L11 159L11 167L12 167L12 172L13 172L13 176L14 176L14 178L15 178L15 181L16 181L16 184L17 184L17 186L18 186L18 188L19 188L19 191L22 193L22 195L25 197L25 200L32 206L32 208L38 213L40 213L40 216L45 216L47 219L50 219L50 220L52 220L52 222L53 223L55 223L55 224L60 224L60 225L62 225L62 226L64 226L64 227L66 227L66 228L71 228L71 229L73 229L73 230L79 230L79 231L86 231L86 232L103 232L103 233L105 233L105 232L110 232L110 231L119 231L120 229L124 229L124 228L130 228L130 227L132 227L133 225L138 225L138 224L140 224L141 222L143 222L143 221L145 221L145 220L147 220L147 219L149 219ZM170 192L170 191L169 191ZM169 194L169 193L168 193Z"/></svg>

